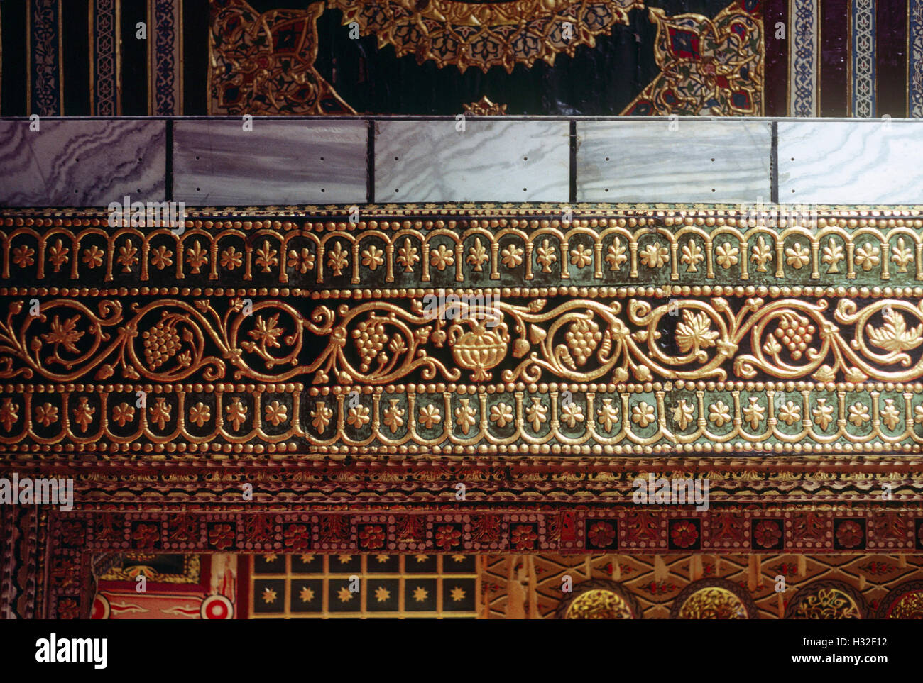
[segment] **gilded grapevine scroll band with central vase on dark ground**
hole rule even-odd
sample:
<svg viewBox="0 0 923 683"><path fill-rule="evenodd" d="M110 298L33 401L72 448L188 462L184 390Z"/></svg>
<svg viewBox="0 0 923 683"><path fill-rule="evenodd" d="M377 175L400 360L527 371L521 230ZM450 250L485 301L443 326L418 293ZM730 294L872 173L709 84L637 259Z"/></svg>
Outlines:
<svg viewBox="0 0 923 683"><path fill-rule="evenodd" d="M742 379L761 373L818 382L915 381L923 359L919 301L747 298L657 303L544 299L424 311L384 301L319 305L308 315L282 300L119 300L95 310L75 300L22 300L0 321L0 377L56 382L111 377L382 384ZM315 341L319 340L319 350ZM511 366L498 371L504 360Z"/></svg>

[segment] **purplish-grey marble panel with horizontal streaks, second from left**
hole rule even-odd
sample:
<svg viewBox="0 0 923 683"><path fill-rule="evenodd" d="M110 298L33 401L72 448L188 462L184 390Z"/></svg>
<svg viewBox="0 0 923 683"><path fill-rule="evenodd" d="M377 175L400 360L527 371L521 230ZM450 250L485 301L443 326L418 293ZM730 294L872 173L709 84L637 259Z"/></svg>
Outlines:
<svg viewBox="0 0 923 683"><path fill-rule="evenodd" d="M366 201L363 121L174 124L174 200L189 206Z"/></svg>

